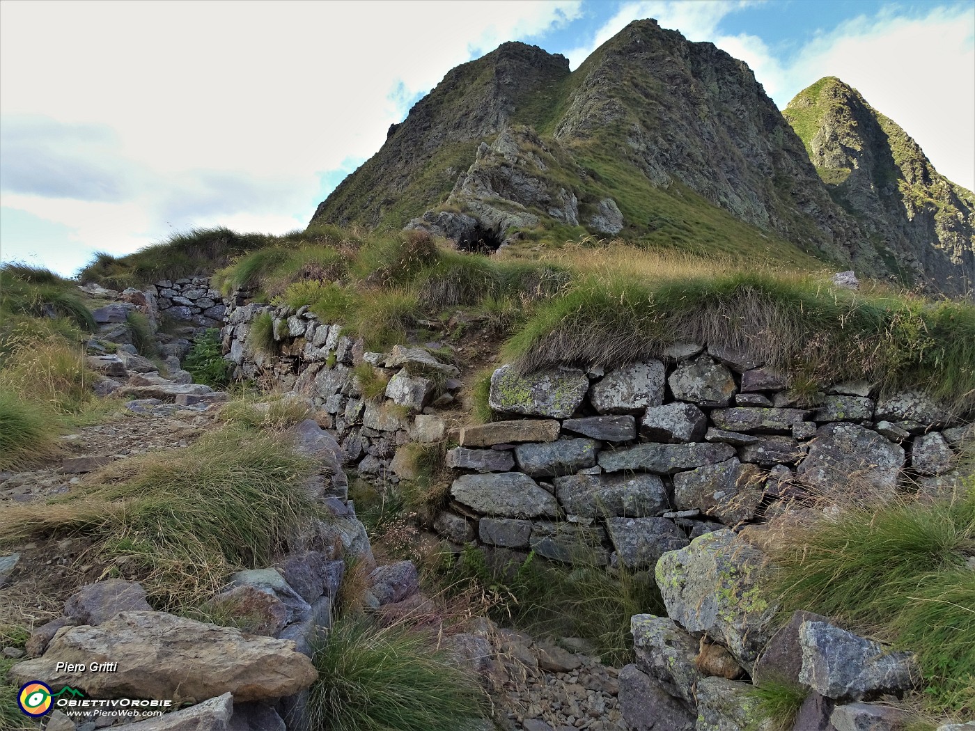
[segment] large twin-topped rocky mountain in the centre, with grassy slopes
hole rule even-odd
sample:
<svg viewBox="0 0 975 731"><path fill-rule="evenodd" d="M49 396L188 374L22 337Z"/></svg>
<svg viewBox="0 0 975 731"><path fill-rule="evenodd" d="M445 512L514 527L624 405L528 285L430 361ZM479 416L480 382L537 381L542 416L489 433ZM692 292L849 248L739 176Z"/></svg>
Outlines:
<svg viewBox="0 0 975 731"><path fill-rule="evenodd" d="M955 213L932 224L953 232L947 256L929 237L878 233L831 196L800 136L743 61L652 19L572 72L505 43L448 72L311 223L426 228L482 250L619 236L964 289L971 245Z"/></svg>

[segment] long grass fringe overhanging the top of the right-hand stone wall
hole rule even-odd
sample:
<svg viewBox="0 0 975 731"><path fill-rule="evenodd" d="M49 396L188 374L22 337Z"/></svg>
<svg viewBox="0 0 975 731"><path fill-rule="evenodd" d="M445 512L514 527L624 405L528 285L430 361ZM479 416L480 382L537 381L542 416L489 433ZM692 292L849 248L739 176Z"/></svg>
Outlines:
<svg viewBox="0 0 975 731"><path fill-rule="evenodd" d="M503 355L523 371L610 366L680 340L740 348L822 386L867 378L882 392L919 388L956 411L975 407L975 307L798 275L593 275L540 303Z"/></svg>

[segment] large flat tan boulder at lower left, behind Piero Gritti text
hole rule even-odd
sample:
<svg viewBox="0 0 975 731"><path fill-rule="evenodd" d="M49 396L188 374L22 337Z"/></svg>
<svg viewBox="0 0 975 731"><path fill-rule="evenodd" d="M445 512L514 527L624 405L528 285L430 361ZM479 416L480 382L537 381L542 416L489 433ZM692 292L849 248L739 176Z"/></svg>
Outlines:
<svg viewBox="0 0 975 731"><path fill-rule="evenodd" d="M115 663L114 673L67 673L58 663ZM54 690L82 688L92 698L200 701L233 693L238 701L291 696L318 676L294 643L217 627L165 612L122 612L98 627L59 632L43 658L11 669L22 684L45 678Z"/></svg>

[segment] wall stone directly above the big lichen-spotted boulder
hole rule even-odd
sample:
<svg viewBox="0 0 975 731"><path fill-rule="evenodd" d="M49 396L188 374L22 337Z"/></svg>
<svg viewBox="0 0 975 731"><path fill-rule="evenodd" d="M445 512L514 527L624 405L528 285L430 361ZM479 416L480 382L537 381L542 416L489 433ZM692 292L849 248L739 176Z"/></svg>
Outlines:
<svg viewBox="0 0 975 731"><path fill-rule="evenodd" d="M761 503L762 476L736 457L674 476L674 502L679 510L699 508L727 525L755 516Z"/></svg>

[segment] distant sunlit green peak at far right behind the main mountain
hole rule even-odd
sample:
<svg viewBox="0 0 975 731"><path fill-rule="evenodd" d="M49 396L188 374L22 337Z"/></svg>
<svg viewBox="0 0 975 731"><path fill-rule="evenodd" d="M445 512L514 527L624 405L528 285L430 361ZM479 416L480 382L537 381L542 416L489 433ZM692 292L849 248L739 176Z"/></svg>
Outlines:
<svg viewBox="0 0 975 731"><path fill-rule="evenodd" d="M968 291L975 280L975 195L836 77L804 89L785 117L834 200L856 217L903 278Z"/></svg>

